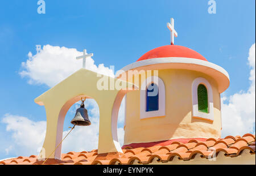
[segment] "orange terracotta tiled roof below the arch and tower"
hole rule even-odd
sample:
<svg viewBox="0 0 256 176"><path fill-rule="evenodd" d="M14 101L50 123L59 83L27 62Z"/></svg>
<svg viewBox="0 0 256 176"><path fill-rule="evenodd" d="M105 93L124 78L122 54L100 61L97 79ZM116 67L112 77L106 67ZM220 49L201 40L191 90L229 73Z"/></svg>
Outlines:
<svg viewBox="0 0 256 176"><path fill-rule="evenodd" d="M183 141L183 143L181 143ZM156 143L158 144L158 143ZM241 136L226 136L224 139L182 139L171 142L165 142L161 145L151 147L132 148L126 146L122 149L122 155L111 155L111 157L102 157L97 150L90 152L68 152L61 154L61 160L49 159L46 164L59 165L118 165L118 164L150 164L150 162L172 162L174 160L193 160L195 157L211 158L215 156L237 157L243 151L249 154L255 154L255 135L245 134ZM135 145L134 145L135 146ZM118 157L119 156L119 157ZM30 157L19 156L0 161L0 165L31 165L42 164L37 156Z"/></svg>

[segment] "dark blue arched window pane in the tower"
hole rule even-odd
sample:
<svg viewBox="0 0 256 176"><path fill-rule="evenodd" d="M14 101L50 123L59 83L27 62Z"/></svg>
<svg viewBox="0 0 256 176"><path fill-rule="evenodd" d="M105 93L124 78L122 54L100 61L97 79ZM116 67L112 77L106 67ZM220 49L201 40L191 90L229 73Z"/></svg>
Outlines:
<svg viewBox="0 0 256 176"><path fill-rule="evenodd" d="M159 109L159 89L158 85L151 83L147 86L146 92L146 111Z"/></svg>

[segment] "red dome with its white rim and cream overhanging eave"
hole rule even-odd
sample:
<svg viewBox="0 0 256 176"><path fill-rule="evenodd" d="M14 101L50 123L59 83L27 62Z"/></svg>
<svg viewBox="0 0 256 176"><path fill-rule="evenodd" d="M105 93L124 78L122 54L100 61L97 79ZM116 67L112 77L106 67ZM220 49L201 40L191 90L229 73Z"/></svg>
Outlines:
<svg viewBox="0 0 256 176"><path fill-rule="evenodd" d="M203 55L185 46L160 46L143 54L137 62L121 68L126 74L129 70L137 70L139 74L141 70L166 69L203 72L217 81L220 93L229 87L229 74L224 68L207 61ZM117 78L121 78L122 75L117 75ZM127 78L127 75L124 78Z"/></svg>

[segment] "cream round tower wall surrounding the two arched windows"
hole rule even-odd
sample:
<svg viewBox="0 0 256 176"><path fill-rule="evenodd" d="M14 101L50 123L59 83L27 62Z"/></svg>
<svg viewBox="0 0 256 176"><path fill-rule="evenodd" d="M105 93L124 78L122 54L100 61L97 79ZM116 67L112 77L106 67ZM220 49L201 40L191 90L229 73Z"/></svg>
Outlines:
<svg viewBox="0 0 256 176"><path fill-rule="evenodd" d="M202 72L189 70L159 70L158 76L166 88L166 116L140 119L140 91L127 93L124 145L175 138L219 138L221 105L217 82ZM192 118L192 82L199 77L212 86L213 122ZM139 83L143 81L140 78Z"/></svg>

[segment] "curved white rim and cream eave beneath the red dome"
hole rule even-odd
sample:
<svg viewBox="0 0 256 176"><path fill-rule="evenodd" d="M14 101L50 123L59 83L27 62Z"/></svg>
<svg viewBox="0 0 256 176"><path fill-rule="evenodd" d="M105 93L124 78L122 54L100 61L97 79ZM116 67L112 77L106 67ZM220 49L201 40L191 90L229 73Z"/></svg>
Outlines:
<svg viewBox="0 0 256 176"><path fill-rule="evenodd" d="M131 63L123 67L121 70L126 72L129 70L163 70L169 68L200 71L212 76L219 85L218 89L220 93L224 92L229 87L229 74L224 68L212 62L195 58L152 58ZM119 76L120 75L117 77Z"/></svg>

